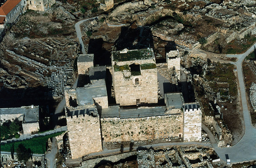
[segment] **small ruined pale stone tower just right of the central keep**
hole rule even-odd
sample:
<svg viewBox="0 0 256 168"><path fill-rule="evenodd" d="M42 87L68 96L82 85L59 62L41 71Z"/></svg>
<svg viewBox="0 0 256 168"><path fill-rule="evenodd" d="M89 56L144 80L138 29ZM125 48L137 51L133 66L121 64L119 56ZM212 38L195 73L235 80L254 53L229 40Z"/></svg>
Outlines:
<svg viewBox="0 0 256 168"><path fill-rule="evenodd" d="M169 53L166 53L166 62L168 68L175 68L175 72L177 75L177 78L180 80L180 54L179 50L171 50Z"/></svg>

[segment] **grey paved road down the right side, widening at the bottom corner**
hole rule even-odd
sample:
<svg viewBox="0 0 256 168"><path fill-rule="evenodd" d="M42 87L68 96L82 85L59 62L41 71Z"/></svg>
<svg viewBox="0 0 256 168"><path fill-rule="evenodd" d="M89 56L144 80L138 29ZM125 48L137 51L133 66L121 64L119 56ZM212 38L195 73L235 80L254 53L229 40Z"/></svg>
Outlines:
<svg viewBox="0 0 256 168"><path fill-rule="evenodd" d="M219 148L216 143L212 143L216 153L222 160L226 160L226 155L229 156L231 162L241 162L256 159L256 129L252 126L250 119L250 112L247 105L246 87L244 83L242 63L246 56L248 56L256 48L256 43L250 47L245 53L237 55L227 55L228 57L237 57L237 62L230 62L237 67L238 82L240 86L240 95L242 101L245 134L243 138L231 148Z"/></svg>

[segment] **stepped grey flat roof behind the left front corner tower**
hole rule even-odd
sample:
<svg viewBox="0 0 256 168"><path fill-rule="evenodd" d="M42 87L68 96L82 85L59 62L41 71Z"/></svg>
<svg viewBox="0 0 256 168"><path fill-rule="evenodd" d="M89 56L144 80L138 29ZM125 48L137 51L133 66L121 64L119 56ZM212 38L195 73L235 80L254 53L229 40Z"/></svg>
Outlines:
<svg viewBox="0 0 256 168"><path fill-rule="evenodd" d="M92 84L89 84L88 87L79 87L76 88L77 94L77 104L93 104L94 97L107 96L106 82L104 79L92 81Z"/></svg>

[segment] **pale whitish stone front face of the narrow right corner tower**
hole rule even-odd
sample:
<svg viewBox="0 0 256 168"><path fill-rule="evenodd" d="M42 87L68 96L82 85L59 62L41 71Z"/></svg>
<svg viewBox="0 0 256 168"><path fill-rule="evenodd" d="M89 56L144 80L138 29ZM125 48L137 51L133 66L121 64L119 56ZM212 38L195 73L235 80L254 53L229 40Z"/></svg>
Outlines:
<svg viewBox="0 0 256 168"><path fill-rule="evenodd" d="M201 141L202 112L200 109L184 111L184 141Z"/></svg>

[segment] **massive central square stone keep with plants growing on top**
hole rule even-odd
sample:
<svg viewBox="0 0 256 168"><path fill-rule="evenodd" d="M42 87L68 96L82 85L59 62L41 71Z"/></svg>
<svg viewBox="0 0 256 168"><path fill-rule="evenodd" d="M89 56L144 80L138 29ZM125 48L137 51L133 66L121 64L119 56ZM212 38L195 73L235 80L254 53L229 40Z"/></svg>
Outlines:
<svg viewBox="0 0 256 168"><path fill-rule="evenodd" d="M152 48L115 51L111 60L117 103L157 103L157 69Z"/></svg>

